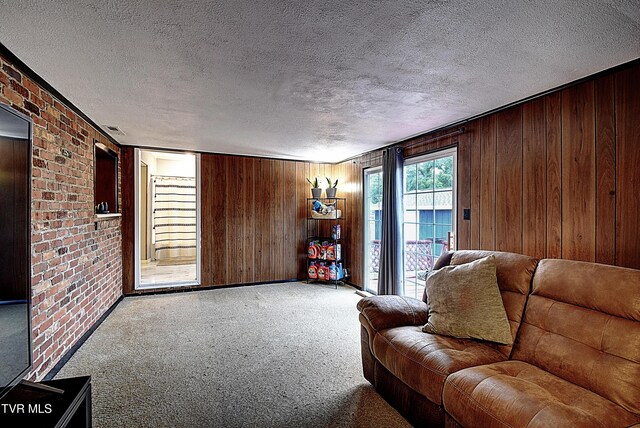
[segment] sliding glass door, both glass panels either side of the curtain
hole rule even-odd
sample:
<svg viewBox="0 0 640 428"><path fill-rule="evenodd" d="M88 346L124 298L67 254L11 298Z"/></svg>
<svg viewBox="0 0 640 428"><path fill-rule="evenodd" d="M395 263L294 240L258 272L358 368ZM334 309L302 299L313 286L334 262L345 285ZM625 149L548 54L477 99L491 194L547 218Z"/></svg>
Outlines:
<svg viewBox="0 0 640 428"><path fill-rule="evenodd" d="M451 248L456 218L456 153L447 149L405 160L404 290L422 298L427 273ZM364 287L377 293L382 239L382 169L364 171Z"/></svg>

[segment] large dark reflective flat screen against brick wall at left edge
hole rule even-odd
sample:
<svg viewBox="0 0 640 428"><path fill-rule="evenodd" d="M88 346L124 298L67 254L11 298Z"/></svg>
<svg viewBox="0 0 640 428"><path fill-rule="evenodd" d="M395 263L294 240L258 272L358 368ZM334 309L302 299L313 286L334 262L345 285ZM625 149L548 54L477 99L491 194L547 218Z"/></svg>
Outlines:
<svg viewBox="0 0 640 428"><path fill-rule="evenodd" d="M0 397L32 365L31 127L0 103Z"/></svg>

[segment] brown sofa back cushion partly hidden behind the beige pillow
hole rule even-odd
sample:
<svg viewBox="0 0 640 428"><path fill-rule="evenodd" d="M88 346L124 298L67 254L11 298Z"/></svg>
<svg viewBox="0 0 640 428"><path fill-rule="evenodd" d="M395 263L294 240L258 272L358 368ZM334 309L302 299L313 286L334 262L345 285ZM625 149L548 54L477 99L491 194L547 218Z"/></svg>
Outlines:
<svg viewBox="0 0 640 428"><path fill-rule="evenodd" d="M515 340L516 333L522 321L524 305L531 289L531 278L536 270L538 259L522 254L505 253L500 251L460 250L445 253L438 258L434 269L448 264L461 265L493 255L496 263L498 288L502 296L511 336ZM426 294L423 300L427 302ZM427 302L428 303L428 302ZM505 357L509 357L513 345L491 345L498 349Z"/></svg>

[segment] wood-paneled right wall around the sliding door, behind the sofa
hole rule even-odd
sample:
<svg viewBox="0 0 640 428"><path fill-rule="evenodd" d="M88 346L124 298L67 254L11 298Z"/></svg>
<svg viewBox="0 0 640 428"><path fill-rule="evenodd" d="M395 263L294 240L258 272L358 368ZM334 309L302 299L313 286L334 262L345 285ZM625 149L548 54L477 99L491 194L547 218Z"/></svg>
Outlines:
<svg viewBox="0 0 640 428"><path fill-rule="evenodd" d="M465 124L411 157L457 145L459 249L513 251L640 269L640 64ZM446 133L447 131L442 131ZM363 169L380 151L333 168L350 195L352 281L362 286ZM355 166L355 168L353 168ZM359 204L359 205L358 205ZM471 209L471 220L462 210Z"/></svg>

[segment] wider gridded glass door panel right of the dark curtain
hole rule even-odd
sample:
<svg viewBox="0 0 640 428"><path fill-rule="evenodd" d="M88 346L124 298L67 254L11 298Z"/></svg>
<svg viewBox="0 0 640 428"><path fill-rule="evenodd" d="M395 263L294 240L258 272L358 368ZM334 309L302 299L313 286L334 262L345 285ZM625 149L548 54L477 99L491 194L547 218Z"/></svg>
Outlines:
<svg viewBox="0 0 640 428"><path fill-rule="evenodd" d="M420 299L424 281L454 233L456 149L405 160L404 288Z"/></svg>

